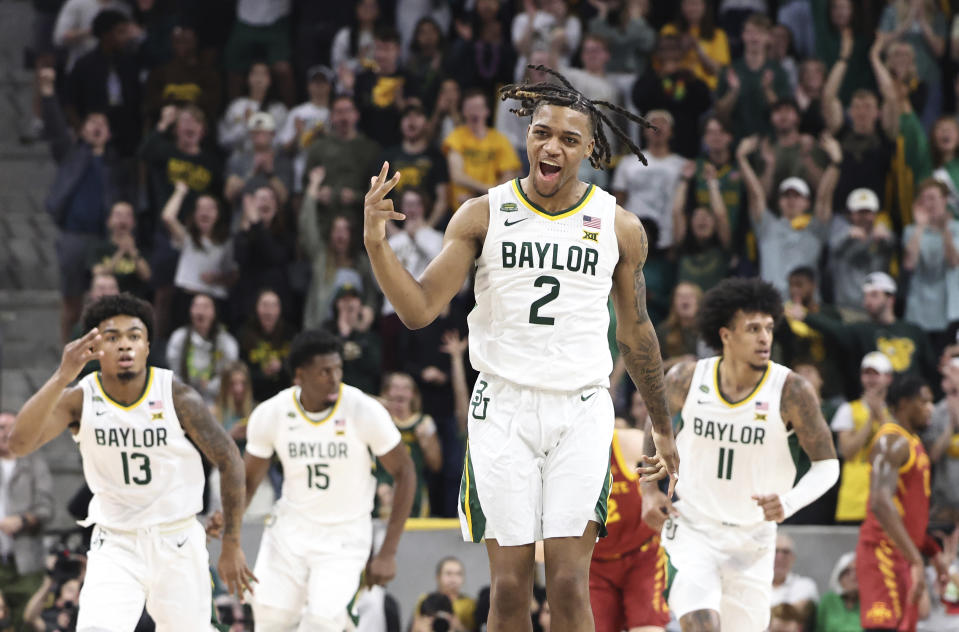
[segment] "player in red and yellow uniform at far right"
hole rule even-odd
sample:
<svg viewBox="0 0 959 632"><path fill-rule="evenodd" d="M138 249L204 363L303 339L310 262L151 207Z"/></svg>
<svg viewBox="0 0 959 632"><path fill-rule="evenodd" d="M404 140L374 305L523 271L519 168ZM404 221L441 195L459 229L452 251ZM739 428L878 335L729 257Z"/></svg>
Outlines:
<svg viewBox="0 0 959 632"><path fill-rule="evenodd" d="M932 391L921 378L904 376L889 389L895 422L880 426L869 462L869 503L859 530L856 576L863 630L912 632L926 590L922 556L942 577L948 562L929 524L929 457L919 433L929 425Z"/></svg>

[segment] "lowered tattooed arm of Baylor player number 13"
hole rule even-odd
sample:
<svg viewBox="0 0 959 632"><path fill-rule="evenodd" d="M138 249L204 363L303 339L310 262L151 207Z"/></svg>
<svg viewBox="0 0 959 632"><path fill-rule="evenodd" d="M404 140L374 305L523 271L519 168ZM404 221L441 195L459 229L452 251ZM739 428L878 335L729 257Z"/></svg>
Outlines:
<svg viewBox="0 0 959 632"><path fill-rule="evenodd" d="M220 470L220 496L223 499L223 547L217 570L230 593L253 592L250 580L256 581L246 566L240 548L240 523L246 496L243 460L236 443L210 414L200 394L192 387L176 381L173 384L173 407L184 432L197 448Z"/></svg>

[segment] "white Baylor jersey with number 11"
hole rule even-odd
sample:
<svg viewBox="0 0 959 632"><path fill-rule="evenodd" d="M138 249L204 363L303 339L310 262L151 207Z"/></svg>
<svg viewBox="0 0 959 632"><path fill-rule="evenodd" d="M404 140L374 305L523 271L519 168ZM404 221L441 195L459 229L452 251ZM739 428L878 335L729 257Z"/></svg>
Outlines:
<svg viewBox="0 0 959 632"><path fill-rule="evenodd" d="M754 525L763 521L763 512L753 494L782 495L796 478L798 439L780 414L790 371L770 362L755 390L731 403L719 390L720 361L713 357L696 363L676 433L676 494L681 512Z"/></svg>

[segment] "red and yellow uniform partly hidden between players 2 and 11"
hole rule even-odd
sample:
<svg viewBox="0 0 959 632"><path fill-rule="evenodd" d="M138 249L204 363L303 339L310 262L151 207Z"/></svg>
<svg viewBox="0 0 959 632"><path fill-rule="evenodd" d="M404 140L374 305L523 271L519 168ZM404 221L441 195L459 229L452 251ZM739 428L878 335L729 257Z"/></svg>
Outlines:
<svg viewBox="0 0 959 632"><path fill-rule="evenodd" d="M589 600L596 632L665 627L669 623L663 596L668 558L659 546L659 534L643 522L639 476L624 462L615 432L610 471L609 535L596 543L589 567Z"/></svg>

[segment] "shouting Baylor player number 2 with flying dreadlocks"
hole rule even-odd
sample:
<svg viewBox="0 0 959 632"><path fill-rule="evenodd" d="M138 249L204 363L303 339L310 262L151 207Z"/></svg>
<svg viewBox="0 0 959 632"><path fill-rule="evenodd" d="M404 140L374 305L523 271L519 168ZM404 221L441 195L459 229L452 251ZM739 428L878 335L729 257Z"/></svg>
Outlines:
<svg viewBox="0 0 959 632"><path fill-rule="evenodd" d="M605 532L610 490L612 361L606 342L612 292L616 338L653 419L664 464L678 469L662 359L646 312L646 234L606 191L577 179L580 163L609 159L604 124L639 154L605 114L559 83L513 85L503 98L531 116L529 174L466 202L443 249L414 279L386 241L401 220L386 194L399 181L384 164L365 200L364 241L373 271L411 328L432 322L476 269L470 360L480 370L469 413L460 491L466 540L486 540L490 632L530 630L537 540L545 540L546 590L559 632L593 630L590 556ZM620 110L616 110L619 112ZM639 117L632 118L645 123Z"/></svg>

